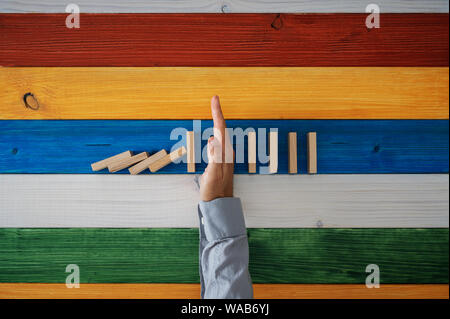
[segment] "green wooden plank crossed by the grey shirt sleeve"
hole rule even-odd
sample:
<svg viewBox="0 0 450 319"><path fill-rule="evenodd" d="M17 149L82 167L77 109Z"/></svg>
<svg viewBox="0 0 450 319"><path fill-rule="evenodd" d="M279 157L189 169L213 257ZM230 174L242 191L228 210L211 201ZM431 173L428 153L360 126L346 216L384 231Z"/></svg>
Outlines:
<svg viewBox="0 0 450 319"><path fill-rule="evenodd" d="M448 228L248 229L254 283L448 283ZM0 282L198 283L197 229L0 229Z"/></svg>

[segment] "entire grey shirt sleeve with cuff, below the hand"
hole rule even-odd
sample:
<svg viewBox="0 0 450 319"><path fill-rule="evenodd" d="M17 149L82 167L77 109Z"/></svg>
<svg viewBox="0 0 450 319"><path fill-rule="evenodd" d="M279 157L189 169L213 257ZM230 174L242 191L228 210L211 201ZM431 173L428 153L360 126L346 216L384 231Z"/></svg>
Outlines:
<svg viewBox="0 0 450 319"><path fill-rule="evenodd" d="M248 240L241 200L217 198L198 205L202 298L253 298Z"/></svg>

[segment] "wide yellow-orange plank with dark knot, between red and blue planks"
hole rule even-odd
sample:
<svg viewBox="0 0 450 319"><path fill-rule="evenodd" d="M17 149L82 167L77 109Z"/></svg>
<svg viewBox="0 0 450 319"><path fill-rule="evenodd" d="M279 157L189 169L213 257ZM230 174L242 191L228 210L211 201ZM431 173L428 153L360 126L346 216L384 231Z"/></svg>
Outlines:
<svg viewBox="0 0 450 319"><path fill-rule="evenodd" d="M0 68L0 119L448 119L446 68ZM24 103L27 97L28 107Z"/></svg>

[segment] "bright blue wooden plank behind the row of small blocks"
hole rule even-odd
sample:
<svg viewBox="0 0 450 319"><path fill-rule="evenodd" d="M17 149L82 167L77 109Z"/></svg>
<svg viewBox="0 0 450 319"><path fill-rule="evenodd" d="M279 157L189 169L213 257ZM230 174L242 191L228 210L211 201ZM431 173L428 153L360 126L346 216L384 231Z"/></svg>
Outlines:
<svg viewBox="0 0 450 319"><path fill-rule="evenodd" d="M281 174L288 169L290 131L298 132L300 173L306 173L306 133L310 131L318 134L319 173L448 173L448 120L232 120L227 124L244 130L277 128ZM204 130L212 123L201 121L201 125ZM170 132L178 127L192 130L193 122L0 121L0 173L92 173L92 162L125 150L170 150L178 141L170 140ZM197 164L197 172L205 166ZM235 171L247 173L247 164L236 164ZM160 173L186 173L186 165L170 164Z"/></svg>

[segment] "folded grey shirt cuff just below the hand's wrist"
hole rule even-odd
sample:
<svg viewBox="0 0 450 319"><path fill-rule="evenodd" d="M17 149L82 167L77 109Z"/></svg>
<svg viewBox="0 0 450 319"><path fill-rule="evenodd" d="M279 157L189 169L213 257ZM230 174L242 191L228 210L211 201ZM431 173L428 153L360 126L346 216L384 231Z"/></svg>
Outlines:
<svg viewBox="0 0 450 319"><path fill-rule="evenodd" d="M200 201L200 228L206 240L246 235L241 199L237 197L216 198L210 202ZM202 227L203 226L203 227Z"/></svg>

